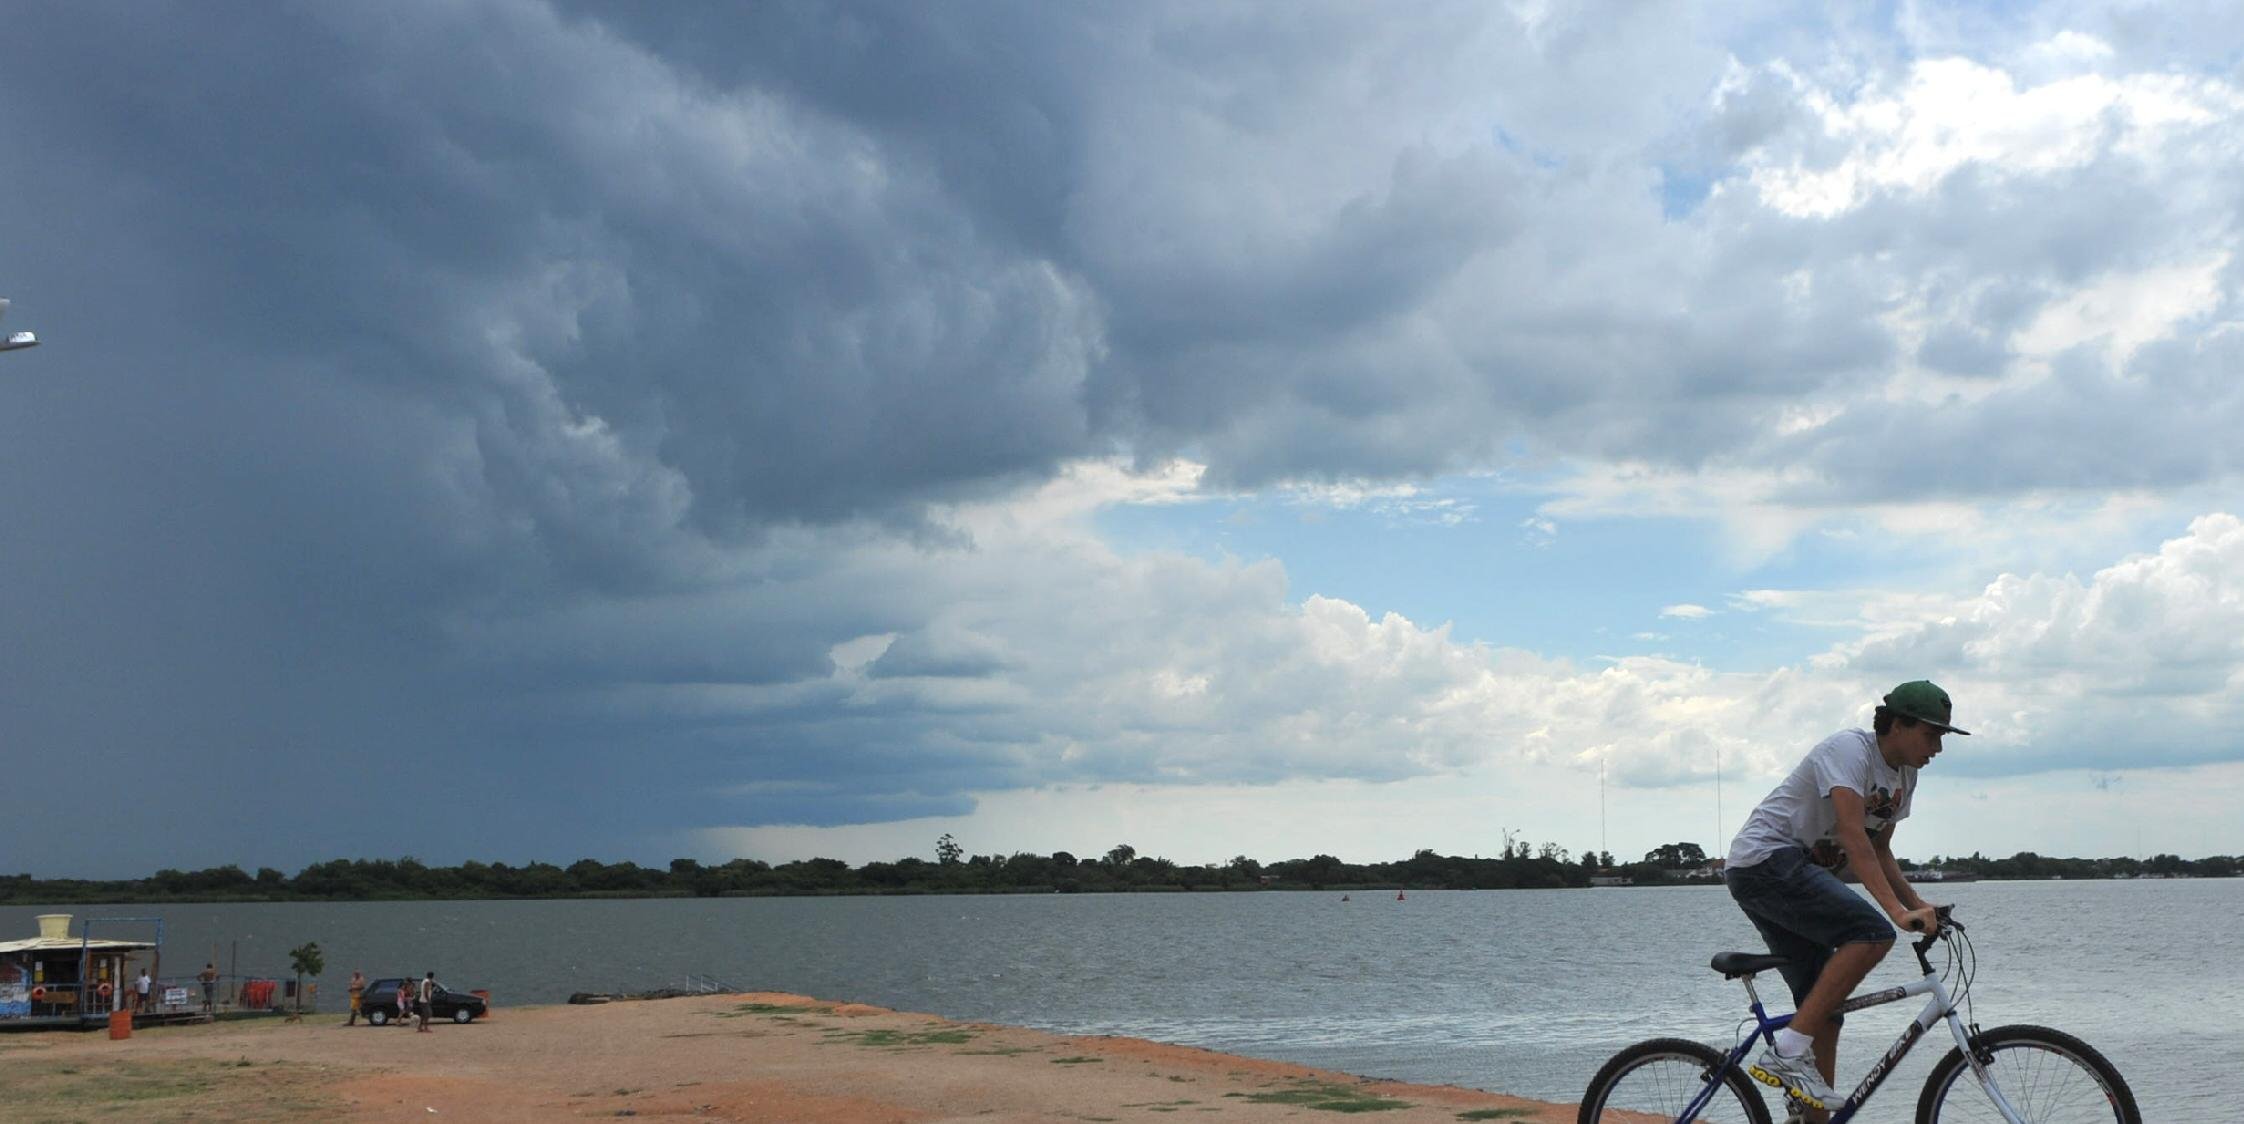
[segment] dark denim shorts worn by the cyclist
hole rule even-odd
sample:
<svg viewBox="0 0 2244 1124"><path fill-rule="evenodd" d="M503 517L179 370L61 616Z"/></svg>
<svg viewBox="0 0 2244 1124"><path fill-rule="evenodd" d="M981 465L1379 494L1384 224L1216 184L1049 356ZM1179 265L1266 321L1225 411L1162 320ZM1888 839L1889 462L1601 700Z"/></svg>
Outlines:
<svg viewBox="0 0 2244 1124"><path fill-rule="evenodd" d="M1840 945L1889 945L1894 924L1831 870L1809 862L1806 848L1779 850L1753 866L1723 873L1730 897L1762 931L1768 951L1784 958L1793 1005L1809 996L1815 976ZM1836 1014L1831 1021L1840 1021Z"/></svg>

